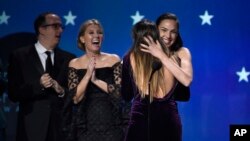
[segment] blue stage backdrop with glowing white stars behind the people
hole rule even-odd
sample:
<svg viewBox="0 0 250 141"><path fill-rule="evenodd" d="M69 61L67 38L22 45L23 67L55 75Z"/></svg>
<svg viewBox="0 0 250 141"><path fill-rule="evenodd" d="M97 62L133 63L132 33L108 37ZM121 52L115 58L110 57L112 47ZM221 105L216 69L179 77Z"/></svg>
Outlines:
<svg viewBox="0 0 250 141"><path fill-rule="evenodd" d="M35 17L54 11L66 26L61 48L80 56L78 29L83 21L96 18L104 27L102 50L122 58L131 46L134 23L175 13L194 67L191 99L178 102L183 141L228 141L230 124L250 124L249 8L247 0L1 0L0 38L34 32ZM13 48L17 47L0 46L3 62ZM9 128L15 125L15 118L11 112L18 107L6 94L0 103L12 136Z"/></svg>

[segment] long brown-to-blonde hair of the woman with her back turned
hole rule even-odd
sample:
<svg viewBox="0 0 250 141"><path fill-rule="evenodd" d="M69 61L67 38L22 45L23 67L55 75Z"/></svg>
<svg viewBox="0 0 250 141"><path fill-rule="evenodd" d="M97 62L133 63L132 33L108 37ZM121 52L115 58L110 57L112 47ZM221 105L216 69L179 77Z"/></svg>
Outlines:
<svg viewBox="0 0 250 141"><path fill-rule="evenodd" d="M163 52L169 56L169 50L167 47L164 47L164 43L160 39L159 31L156 25L149 20L142 20L134 25L132 30L133 45L129 51L131 56L131 61L134 62L133 68L133 77L135 83L138 87L141 97L145 97L149 92L148 82L149 77L152 72L152 64L154 61L159 61L157 58L153 57L149 53L142 52L140 50L140 44L147 44L144 40L144 37L151 36L154 41L158 40L162 46ZM150 82L150 101L152 102L154 94L161 89L163 92L166 92L164 82L164 72L163 68L156 71Z"/></svg>

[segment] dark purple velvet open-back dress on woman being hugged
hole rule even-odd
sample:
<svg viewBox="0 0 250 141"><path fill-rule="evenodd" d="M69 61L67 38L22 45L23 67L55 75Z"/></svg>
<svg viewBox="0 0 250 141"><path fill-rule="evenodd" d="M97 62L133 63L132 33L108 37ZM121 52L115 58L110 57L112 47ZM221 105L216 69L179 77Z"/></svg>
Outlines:
<svg viewBox="0 0 250 141"><path fill-rule="evenodd" d="M182 125L174 88L164 98L141 98L135 85L129 55L123 58L121 94L126 101L132 100L130 120L125 141L181 141Z"/></svg>

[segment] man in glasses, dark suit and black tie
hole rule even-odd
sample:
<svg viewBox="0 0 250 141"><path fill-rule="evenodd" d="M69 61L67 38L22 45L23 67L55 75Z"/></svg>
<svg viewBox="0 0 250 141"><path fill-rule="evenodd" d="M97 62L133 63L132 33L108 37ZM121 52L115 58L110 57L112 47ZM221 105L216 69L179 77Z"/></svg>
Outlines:
<svg viewBox="0 0 250 141"><path fill-rule="evenodd" d="M39 15L34 28L38 41L13 51L9 59L8 95L19 102L16 140L62 141L61 109L67 69L75 55L57 47L63 32L58 15Z"/></svg>

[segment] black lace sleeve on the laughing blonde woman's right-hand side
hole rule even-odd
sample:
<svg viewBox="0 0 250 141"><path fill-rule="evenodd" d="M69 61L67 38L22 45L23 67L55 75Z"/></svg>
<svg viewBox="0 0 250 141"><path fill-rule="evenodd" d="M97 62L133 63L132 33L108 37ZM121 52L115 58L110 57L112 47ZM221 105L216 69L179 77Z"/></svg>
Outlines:
<svg viewBox="0 0 250 141"><path fill-rule="evenodd" d="M113 65L114 71L114 83L108 84L108 92L116 99L121 98L121 75L122 75L122 63L117 62Z"/></svg>

